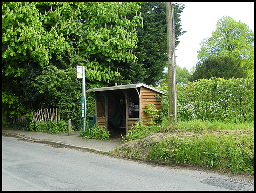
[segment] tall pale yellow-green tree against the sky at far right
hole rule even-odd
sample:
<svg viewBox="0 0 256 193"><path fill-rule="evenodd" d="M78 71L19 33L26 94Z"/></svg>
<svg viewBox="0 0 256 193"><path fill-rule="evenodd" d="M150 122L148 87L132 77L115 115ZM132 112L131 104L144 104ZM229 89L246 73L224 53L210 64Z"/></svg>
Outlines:
<svg viewBox="0 0 256 193"><path fill-rule="evenodd" d="M224 16L217 22L212 36L204 39L201 45L198 59L222 56L241 59L247 77L254 77L254 32L246 24Z"/></svg>

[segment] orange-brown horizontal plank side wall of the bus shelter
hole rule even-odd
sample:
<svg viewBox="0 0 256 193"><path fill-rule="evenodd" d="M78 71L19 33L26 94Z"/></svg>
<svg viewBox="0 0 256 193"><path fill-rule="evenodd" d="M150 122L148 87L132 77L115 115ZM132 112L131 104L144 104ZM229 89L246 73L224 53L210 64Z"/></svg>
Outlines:
<svg viewBox="0 0 256 193"><path fill-rule="evenodd" d="M162 94L157 93L155 91L152 91L150 89L141 88L141 113L142 113L142 120L144 121L144 124L146 126L148 126L147 122L150 121L152 119L152 117L150 115L147 115L146 112L143 112L144 109L146 109L146 105L148 103L153 103L155 106L155 108L157 108L158 110L160 110L162 102L157 101L155 94L159 94L160 97L162 96Z"/></svg>

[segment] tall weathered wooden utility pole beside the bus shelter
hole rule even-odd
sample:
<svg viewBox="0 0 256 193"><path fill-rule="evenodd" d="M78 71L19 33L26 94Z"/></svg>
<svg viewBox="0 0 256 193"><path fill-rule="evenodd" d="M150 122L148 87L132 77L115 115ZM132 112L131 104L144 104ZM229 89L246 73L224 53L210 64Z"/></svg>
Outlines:
<svg viewBox="0 0 256 193"><path fill-rule="evenodd" d="M166 20L168 45L169 124L172 124L173 122L177 122L175 30L173 2L166 2Z"/></svg>

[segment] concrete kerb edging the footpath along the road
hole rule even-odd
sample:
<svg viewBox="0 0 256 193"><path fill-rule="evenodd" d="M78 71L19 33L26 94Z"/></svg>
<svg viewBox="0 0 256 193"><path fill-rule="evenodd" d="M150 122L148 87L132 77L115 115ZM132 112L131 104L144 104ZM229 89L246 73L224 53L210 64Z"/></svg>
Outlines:
<svg viewBox="0 0 256 193"><path fill-rule="evenodd" d="M55 145L55 146L58 146L58 147L75 148L75 149L81 149L81 150L86 150L86 151L94 151L94 152L98 152L98 153L110 153L110 151L102 151L102 150L94 149L94 148L87 148L87 147L69 145L69 144L56 142L56 141L29 139L29 138L26 138L26 137L23 137L23 136L20 136L20 135L17 135L17 134L2 133L2 135L9 136L9 137L15 137L15 138L21 138L21 139L36 142L36 143L44 143L44 144L48 144L48 145Z"/></svg>

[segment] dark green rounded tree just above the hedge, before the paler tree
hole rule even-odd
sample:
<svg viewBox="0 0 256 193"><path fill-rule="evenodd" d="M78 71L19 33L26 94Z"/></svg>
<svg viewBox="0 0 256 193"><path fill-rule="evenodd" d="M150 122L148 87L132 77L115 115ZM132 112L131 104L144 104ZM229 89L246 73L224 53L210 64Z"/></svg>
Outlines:
<svg viewBox="0 0 256 193"><path fill-rule="evenodd" d="M196 70L192 74L190 81L198 79L217 78L243 78L245 77L244 67L241 67L241 60L231 56L209 57L205 61L198 62Z"/></svg>

